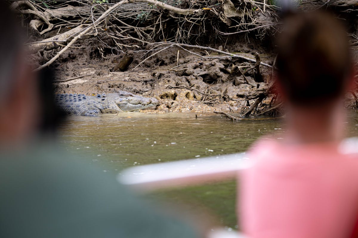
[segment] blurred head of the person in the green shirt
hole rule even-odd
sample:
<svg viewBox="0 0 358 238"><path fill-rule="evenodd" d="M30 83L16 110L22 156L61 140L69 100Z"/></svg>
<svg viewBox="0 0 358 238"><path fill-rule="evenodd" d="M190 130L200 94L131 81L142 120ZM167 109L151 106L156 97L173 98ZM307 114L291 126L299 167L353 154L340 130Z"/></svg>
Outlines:
<svg viewBox="0 0 358 238"><path fill-rule="evenodd" d="M37 80L26 64L24 37L13 13L0 2L0 144L27 137L37 126Z"/></svg>

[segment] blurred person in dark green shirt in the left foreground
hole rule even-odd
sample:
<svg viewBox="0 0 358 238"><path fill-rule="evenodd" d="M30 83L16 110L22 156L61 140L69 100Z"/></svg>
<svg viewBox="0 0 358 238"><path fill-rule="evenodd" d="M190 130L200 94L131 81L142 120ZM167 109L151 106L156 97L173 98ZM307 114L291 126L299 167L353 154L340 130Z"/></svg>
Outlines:
<svg viewBox="0 0 358 238"><path fill-rule="evenodd" d="M41 81L26 64L21 31L3 1L0 32L0 237L197 237L115 176L52 145L61 117L50 75Z"/></svg>

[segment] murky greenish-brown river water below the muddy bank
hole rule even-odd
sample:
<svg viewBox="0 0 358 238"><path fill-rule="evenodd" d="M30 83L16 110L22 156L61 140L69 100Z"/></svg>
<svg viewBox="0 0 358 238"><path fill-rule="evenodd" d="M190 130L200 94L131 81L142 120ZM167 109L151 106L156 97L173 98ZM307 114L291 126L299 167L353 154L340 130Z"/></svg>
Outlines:
<svg viewBox="0 0 358 238"><path fill-rule="evenodd" d="M282 120L267 118L232 122L220 115L193 113L121 113L71 117L61 127L61 141L72 153L85 153L88 163L104 172L139 164L243 152L266 133L282 138ZM349 114L348 136L358 136L358 114ZM283 138L284 139L284 138ZM167 199L209 208L219 223L236 226L234 181L173 189Z"/></svg>

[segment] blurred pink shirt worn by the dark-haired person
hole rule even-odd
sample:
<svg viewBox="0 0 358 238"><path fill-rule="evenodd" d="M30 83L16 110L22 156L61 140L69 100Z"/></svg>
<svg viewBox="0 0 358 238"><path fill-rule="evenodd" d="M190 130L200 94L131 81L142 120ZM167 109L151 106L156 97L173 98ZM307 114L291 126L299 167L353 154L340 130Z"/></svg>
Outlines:
<svg viewBox="0 0 358 238"><path fill-rule="evenodd" d="M241 174L240 227L250 238L352 237L358 218L358 155L337 145L261 140Z"/></svg>

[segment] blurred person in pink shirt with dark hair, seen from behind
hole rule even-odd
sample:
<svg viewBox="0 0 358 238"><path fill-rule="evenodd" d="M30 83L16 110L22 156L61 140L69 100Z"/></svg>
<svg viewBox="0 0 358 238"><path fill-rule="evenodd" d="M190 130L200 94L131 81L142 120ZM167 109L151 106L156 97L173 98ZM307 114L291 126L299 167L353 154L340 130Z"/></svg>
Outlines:
<svg viewBox="0 0 358 238"><path fill-rule="evenodd" d="M283 140L254 145L241 175L241 228L250 238L357 236L358 155L340 150L353 81L345 29L324 12L287 17L277 41Z"/></svg>

